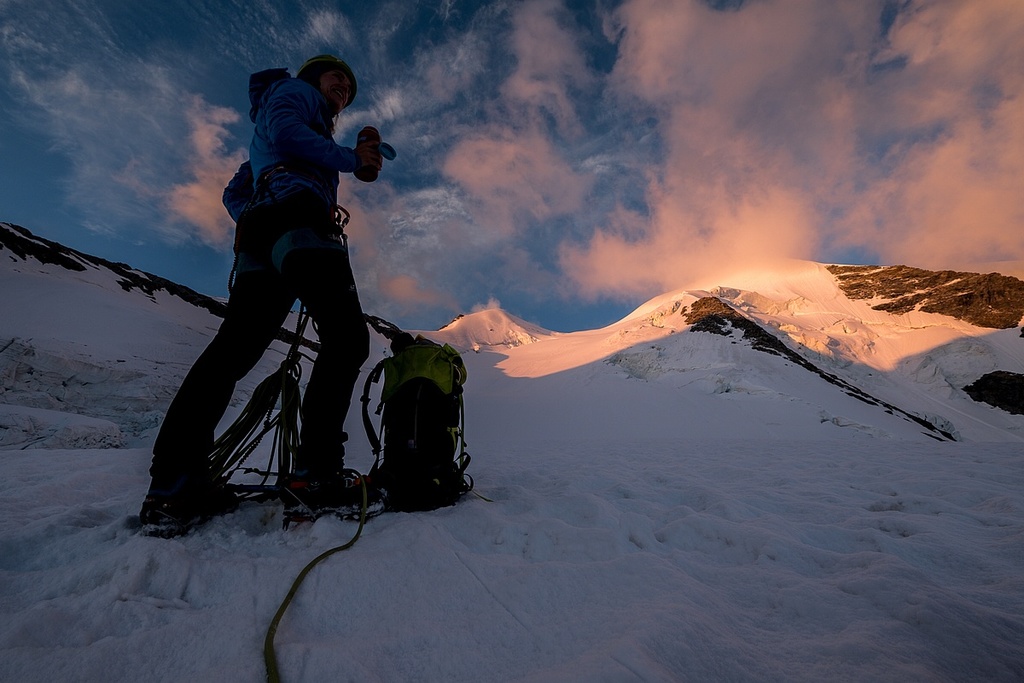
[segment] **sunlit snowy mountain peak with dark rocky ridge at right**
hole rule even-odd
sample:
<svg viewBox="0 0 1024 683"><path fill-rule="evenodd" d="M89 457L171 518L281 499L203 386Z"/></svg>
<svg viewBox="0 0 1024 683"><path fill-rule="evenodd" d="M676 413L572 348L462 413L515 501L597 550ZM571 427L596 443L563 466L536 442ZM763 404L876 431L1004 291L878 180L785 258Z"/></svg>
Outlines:
<svg viewBox="0 0 1024 683"><path fill-rule="evenodd" d="M993 414L976 402L984 400L1011 413L1020 410L1008 384L1024 380L1024 348L1017 330L993 330L964 319L976 315L977 307L958 305L963 298L954 296L927 299L951 299L952 305L945 308L890 310L889 299L858 298L856 290L848 292L834 268L794 261L777 271L737 271L717 284L698 283L654 297L601 330L510 349L499 367L512 377L541 378L570 372L591 376L604 364L633 380L686 387L685 392L784 396L824 404L824 393L806 386L798 389L803 380L788 377L790 368L802 368L831 390L839 388L890 415L921 420L955 438L1020 438L1019 419ZM922 289L936 294L921 285L927 271L870 266L867 271L896 282L903 279L901 287L913 287L915 295ZM1013 292L1019 281L964 278L941 275L935 282L940 289L955 282L975 283L979 297L994 302L990 309L1004 317L1007 310L1014 315L1013 296L1000 298L998 291L990 295L985 287L994 282L999 291ZM895 284L886 290L890 299L900 291ZM765 359L761 352L775 357ZM786 386L791 381L797 384ZM993 394L979 383L992 384L993 394L1001 392L1002 397L989 400ZM983 395L987 397L977 397ZM849 407L843 410L852 414ZM895 433L892 429L883 431Z"/></svg>

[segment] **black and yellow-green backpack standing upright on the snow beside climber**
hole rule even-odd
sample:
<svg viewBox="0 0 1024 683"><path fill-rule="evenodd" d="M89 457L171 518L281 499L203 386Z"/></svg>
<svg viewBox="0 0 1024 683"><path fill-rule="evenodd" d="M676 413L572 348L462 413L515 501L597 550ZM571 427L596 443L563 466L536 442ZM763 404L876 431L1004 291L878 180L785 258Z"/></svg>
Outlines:
<svg viewBox="0 0 1024 683"><path fill-rule="evenodd" d="M388 510L455 505L473 487L463 438L466 366L447 344L404 332L392 338L391 350L393 355L377 364L362 389L362 424L375 456L369 479L384 490ZM378 435L369 404L371 385L382 376Z"/></svg>

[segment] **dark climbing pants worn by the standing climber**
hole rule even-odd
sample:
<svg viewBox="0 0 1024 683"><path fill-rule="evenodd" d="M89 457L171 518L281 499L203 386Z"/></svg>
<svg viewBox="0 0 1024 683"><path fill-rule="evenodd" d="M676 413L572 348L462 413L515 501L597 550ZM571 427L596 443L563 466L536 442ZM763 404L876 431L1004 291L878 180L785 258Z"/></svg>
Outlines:
<svg viewBox="0 0 1024 683"><path fill-rule="evenodd" d="M370 354L348 254L333 243L317 248L315 239L307 239L279 261L273 265L264 256L261 267L239 272L224 321L185 376L157 436L150 470L154 489L173 487L182 476L208 476L214 432L234 386L259 362L296 299L316 324L321 342L302 399L296 469L340 469L345 415Z"/></svg>

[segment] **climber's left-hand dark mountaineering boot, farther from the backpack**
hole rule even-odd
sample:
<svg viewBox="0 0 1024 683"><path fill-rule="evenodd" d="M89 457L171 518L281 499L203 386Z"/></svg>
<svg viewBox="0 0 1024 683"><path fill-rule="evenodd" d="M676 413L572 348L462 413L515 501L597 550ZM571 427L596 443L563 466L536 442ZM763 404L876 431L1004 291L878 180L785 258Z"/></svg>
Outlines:
<svg viewBox="0 0 1024 683"><path fill-rule="evenodd" d="M223 482L186 475L169 488L152 485L138 517L144 536L170 539L238 507L239 499Z"/></svg>

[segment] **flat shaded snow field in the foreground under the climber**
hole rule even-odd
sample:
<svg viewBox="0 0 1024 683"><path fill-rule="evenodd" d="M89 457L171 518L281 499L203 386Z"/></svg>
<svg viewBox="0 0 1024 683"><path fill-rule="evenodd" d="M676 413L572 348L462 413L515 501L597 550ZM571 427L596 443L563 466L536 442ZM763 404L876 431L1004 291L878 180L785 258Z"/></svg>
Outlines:
<svg viewBox="0 0 1024 683"><path fill-rule="evenodd" d="M387 514L309 574L290 681L1018 680L1009 444L480 440L485 502ZM3 680L262 680L355 524L246 504L126 527L147 453L8 452Z"/></svg>

